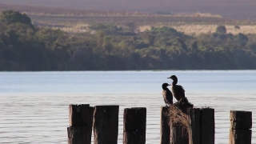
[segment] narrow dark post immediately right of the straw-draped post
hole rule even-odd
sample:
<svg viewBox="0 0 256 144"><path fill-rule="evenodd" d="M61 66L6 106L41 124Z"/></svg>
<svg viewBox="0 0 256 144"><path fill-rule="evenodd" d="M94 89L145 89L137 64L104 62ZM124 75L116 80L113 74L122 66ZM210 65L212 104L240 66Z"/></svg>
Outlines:
<svg viewBox="0 0 256 144"><path fill-rule="evenodd" d="M189 109L187 111L190 128L189 144L200 144L201 142L201 112L200 109Z"/></svg>

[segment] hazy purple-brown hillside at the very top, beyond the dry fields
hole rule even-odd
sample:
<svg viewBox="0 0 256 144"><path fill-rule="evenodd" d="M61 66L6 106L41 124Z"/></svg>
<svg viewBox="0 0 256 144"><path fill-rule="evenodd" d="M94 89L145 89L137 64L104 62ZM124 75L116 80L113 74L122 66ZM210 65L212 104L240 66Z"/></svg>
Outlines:
<svg viewBox="0 0 256 144"><path fill-rule="evenodd" d="M200 12L256 21L256 0L0 0L0 4L80 10Z"/></svg>

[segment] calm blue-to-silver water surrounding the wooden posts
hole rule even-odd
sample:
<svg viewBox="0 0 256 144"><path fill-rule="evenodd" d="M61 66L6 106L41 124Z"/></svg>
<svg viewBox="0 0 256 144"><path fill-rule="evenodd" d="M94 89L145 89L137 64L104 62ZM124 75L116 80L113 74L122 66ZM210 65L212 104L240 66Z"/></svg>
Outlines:
<svg viewBox="0 0 256 144"><path fill-rule="evenodd" d="M196 107L215 109L215 143L228 143L230 110L253 111L256 143L256 70L1 72L0 143L66 143L70 104L147 108L146 143L159 143L162 83L170 75Z"/></svg>

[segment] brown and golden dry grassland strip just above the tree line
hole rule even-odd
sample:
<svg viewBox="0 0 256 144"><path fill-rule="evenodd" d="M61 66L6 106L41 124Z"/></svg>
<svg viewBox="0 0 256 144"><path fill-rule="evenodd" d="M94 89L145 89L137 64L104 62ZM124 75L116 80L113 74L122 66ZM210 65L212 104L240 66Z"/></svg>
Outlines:
<svg viewBox="0 0 256 144"><path fill-rule="evenodd" d="M219 14L199 12L81 10L0 4L1 10L20 11L27 14L35 26L46 26L68 33L84 33L88 26L94 25L94 23L111 23L118 26L133 23L140 31L150 29L151 26L170 26L184 34L209 34L214 33L217 26L225 25L227 33L256 34L254 20L222 18L222 15ZM235 29L234 26L240 26L240 29Z"/></svg>

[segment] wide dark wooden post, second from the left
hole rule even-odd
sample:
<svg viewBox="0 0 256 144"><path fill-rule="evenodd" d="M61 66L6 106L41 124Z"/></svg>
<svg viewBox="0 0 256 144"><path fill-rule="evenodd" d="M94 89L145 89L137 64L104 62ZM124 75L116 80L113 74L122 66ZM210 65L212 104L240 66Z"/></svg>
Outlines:
<svg viewBox="0 0 256 144"><path fill-rule="evenodd" d="M94 144L118 143L119 106L94 107Z"/></svg>

